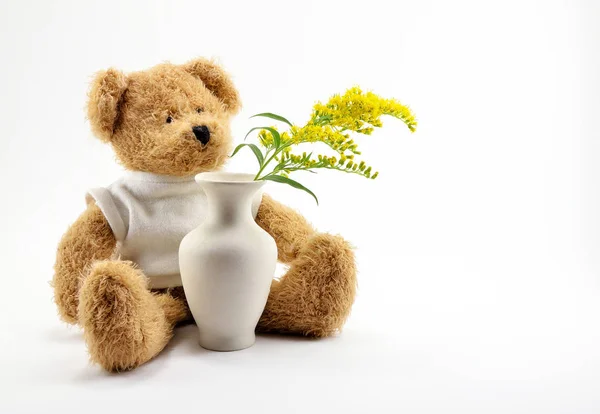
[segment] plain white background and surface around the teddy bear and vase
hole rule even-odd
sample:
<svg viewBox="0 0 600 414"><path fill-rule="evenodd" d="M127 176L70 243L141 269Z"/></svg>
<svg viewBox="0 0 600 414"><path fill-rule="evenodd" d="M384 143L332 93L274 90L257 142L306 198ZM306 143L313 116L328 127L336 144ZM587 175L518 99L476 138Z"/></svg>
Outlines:
<svg viewBox="0 0 600 414"><path fill-rule="evenodd" d="M3 1L0 412L600 412L599 19L596 1ZM195 56L234 76L237 140L354 84L419 130L360 140L375 181L297 176L319 207L268 190L356 246L341 336L223 354L190 326L106 374L48 285L86 189L121 172L87 85Z"/></svg>

